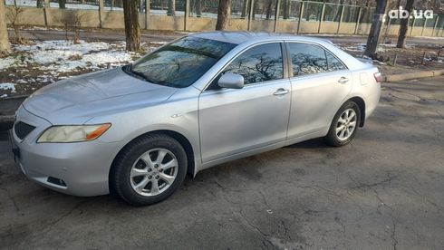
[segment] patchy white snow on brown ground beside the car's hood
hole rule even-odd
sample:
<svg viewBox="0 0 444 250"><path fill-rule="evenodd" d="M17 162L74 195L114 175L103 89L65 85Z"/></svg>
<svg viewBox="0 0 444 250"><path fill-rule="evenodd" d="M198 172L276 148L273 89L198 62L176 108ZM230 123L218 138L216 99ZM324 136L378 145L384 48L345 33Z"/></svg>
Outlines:
<svg viewBox="0 0 444 250"><path fill-rule="evenodd" d="M140 46L144 51L150 52L164 43L141 43ZM125 42L72 43L64 40L12 44L14 53L0 59L0 72L7 75L7 82L0 85L0 96L7 97L11 92L16 92L17 85L14 84L30 84L30 87L36 84L35 86L40 87L82 72L96 72L125 65L143 55L127 52L125 45ZM26 90L29 88L20 88L17 91Z"/></svg>

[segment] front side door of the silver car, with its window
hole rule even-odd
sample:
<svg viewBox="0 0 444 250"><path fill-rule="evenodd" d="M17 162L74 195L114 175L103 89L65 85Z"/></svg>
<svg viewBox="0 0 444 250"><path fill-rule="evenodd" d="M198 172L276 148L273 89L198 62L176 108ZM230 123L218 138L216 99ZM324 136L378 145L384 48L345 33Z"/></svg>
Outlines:
<svg viewBox="0 0 444 250"><path fill-rule="evenodd" d="M284 43L261 43L246 49L200 94L203 163L285 140L291 85L282 46ZM242 75L244 88L218 87L218 78L227 72Z"/></svg>

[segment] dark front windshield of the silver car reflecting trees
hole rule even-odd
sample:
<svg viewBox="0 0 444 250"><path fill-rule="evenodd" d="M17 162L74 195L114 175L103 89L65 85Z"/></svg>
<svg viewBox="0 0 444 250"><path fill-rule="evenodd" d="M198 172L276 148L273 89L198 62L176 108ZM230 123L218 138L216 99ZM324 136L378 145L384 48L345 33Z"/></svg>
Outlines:
<svg viewBox="0 0 444 250"><path fill-rule="evenodd" d="M184 88L196 82L236 46L198 37L184 37L147 54L124 70L155 84Z"/></svg>

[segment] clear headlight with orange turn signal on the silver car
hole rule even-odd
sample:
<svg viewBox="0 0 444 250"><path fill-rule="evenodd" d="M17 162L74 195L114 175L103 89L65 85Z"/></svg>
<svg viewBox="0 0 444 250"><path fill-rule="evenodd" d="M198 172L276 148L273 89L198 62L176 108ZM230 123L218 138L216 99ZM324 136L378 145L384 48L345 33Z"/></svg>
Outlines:
<svg viewBox="0 0 444 250"><path fill-rule="evenodd" d="M67 125L53 126L45 130L37 139L40 142L80 142L99 138L106 130L110 129L110 123L97 125Z"/></svg>

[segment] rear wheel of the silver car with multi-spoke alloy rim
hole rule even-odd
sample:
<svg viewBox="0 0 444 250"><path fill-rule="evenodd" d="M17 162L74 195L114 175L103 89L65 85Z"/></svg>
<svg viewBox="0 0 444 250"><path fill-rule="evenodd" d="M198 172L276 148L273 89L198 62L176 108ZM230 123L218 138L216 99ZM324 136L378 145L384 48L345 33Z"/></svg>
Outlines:
<svg viewBox="0 0 444 250"><path fill-rule="evenodd" d="M334 115L325 141L333 147L344 146L356 135L361 122L361 111L354 101L346 101Z"/></svg>

